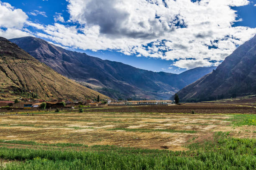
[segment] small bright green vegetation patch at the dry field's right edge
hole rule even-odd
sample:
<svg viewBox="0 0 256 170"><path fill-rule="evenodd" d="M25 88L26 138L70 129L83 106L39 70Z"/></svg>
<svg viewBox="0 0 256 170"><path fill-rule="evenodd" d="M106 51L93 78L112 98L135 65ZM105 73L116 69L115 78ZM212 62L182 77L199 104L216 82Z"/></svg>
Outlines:
<svg viewBox="0 0 256 170"><path fill-rule="evenodd" d="M233 118L230 118L229 121L232 122L234 126L243 126L243 125L249 125L249 126L256 126L256 115L232 115Z"/></svg>

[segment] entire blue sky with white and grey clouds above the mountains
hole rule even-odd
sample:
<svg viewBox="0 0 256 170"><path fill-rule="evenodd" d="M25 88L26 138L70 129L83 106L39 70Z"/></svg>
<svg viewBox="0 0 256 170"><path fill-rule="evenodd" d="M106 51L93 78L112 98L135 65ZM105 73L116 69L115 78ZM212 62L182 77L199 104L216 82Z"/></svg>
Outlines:
<svg viewBox="0 0 256 170"><path fill-rule="evenodd" d="M219 65L256 34L255 16L255 0L0 0L0 36L180 73Z"/></svg>

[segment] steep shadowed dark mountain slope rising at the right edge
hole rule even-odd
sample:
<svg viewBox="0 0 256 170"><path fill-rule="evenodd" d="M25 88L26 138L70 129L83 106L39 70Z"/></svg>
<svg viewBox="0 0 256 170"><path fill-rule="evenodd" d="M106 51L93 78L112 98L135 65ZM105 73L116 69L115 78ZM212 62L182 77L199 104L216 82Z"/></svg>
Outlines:
<svg viewBox="0 0 256 170"><path fill-rule="evenodd" d="M178 92L182 101L205 101L256 94L256 35L214 70Z"/></svg>

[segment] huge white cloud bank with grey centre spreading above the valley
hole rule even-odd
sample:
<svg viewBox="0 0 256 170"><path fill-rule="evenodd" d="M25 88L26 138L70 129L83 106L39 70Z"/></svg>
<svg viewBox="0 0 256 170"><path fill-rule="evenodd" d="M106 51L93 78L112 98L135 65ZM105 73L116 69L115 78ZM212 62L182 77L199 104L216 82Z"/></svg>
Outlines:
<svg viewBox="0 0 256 170"><path fill-rule="evenodd" d="M157 57L176 61L174 66L187 69L217 65L256 33L256 28L232 26L241 18L237 18L231 6L248 5L248 0L67 2L70 14L67 23L72 24L64 24L60 13L54 15L53 25L28 22L25 13L18 23L20 27L26 23L40 30L33 33L37 37L65 47L116 50L125 55ZM12 13L15 11L6 5L2 7ZM19 12L23 13L22 10ZM9 23L10 27L12 23Z"/></svg>

